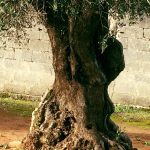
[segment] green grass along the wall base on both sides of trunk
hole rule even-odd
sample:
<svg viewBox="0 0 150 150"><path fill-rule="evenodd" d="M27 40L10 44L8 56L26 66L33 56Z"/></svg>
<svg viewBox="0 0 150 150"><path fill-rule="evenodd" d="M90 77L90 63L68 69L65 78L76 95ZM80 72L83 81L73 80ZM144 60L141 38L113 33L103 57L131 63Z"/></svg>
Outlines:
<svg viewBox="0 0 150 150"><path fill-rule="evenodd" d="M30 117L37 105L37 101L0 98L0 108L18 116ZM150 129L150 109L119 105L115 107L112 120L116 123Z"/></svg>

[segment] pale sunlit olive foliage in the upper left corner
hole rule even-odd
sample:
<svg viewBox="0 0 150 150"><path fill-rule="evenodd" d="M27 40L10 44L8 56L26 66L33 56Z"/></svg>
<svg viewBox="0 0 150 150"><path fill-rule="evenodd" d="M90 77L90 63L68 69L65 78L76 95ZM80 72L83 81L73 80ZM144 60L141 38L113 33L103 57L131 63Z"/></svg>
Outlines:
<svg viewBox="0 0 150 150"><path fill-rule="evenodd" d="M29 0L0 0L0 30L24 27L28 9Z"/></svg>

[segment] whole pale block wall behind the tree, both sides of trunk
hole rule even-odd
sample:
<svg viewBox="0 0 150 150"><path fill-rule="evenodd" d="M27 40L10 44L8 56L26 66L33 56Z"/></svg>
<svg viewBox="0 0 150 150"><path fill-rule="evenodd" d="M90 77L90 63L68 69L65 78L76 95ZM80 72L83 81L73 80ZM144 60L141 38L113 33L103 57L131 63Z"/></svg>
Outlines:
<svg viewBox="0 0 150 150"><path fill-rule="evenodd" d="M10 35L0 37L0 92L41 96L54 82L52 53L46 29L26 29L19 44ZM150 106L150 19L119 28L126 68L112 82L115 103Z"/></svg>

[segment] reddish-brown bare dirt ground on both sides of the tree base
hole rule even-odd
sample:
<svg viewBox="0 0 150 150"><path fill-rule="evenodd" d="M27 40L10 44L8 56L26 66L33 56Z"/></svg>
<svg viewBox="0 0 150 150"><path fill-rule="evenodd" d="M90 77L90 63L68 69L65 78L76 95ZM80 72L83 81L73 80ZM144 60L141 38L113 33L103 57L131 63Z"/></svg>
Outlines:
<svg viewBox="0 0 150 150"><path fill-rule="evenodd" d="M14 116L0 110L0 145L21 140L28 133L30 121L31 118ZM128 133L135 148L150 150L150 146L145 144L145 142L150 142L150 129L144 130L123 124L120 124L120 126Z"/></svg>

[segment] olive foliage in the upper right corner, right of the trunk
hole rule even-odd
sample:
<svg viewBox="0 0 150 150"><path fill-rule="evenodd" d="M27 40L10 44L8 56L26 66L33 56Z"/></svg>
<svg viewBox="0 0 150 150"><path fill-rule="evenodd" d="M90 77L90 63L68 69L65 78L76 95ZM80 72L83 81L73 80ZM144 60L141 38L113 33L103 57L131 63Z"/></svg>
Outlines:
<svg viewBox="0 0 150 150"><path fill-rule="evenodd" d="M128 15L132 20L150 15L149 0L109 0L108 3L110 14L117 18L122 19Z"/></svg>

